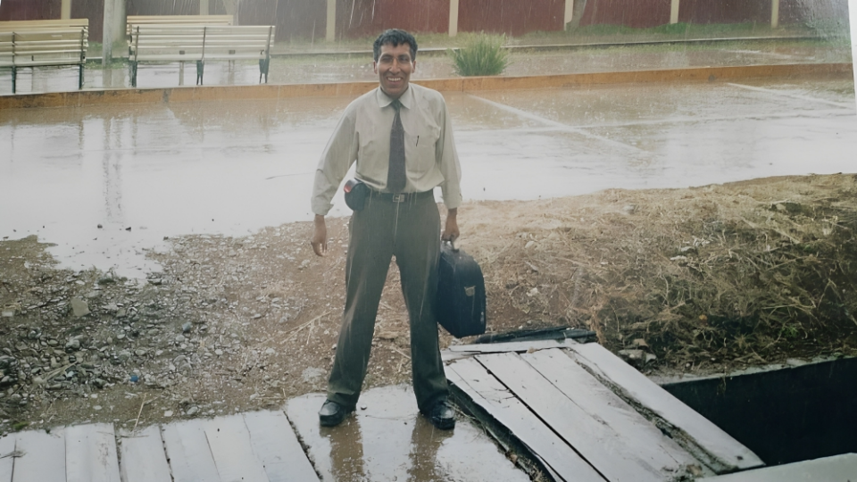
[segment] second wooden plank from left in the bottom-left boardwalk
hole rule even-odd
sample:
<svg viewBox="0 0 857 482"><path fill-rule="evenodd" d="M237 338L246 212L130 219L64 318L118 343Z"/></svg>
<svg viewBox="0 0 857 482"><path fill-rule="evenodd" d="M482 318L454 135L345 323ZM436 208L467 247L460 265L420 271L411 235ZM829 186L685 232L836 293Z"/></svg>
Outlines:
<svg viewBox="0 0 857 482"><path fill-rule="evenodd" d="M15 459L12 482L65 480L65 434L62 428L55 428L51 433L42 430L19 432L15 437L15 451L21 456Z"/></svg>

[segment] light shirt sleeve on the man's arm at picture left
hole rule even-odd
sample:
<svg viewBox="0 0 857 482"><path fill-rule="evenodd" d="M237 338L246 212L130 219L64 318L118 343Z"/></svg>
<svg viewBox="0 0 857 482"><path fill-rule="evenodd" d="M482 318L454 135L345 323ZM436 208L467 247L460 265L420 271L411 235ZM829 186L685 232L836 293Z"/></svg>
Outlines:
<svg viewBox="0 0 857 482"><path fill-rule="evenodd" d="M327 215L333 207L333 196L351 164L357 160L359 139L355 129L356 110L349 105L321 154L312 186L312 212Z"/></svg>

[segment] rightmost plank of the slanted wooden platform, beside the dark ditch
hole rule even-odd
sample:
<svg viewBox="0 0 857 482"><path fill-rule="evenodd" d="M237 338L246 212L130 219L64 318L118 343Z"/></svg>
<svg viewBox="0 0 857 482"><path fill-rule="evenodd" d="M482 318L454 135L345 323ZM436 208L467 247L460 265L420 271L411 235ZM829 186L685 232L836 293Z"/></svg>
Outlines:
<svg viewBox="0 0 857 482"><path fill-rule="evenodd" d="M658 420L658 426L703 461L715 473L734 472L761 467L764 462L732 436L681 403L678 398L655 384L645 375L622 362L602 345L570 345L575 362L595 374L628 403L645 408Z"/></svg>

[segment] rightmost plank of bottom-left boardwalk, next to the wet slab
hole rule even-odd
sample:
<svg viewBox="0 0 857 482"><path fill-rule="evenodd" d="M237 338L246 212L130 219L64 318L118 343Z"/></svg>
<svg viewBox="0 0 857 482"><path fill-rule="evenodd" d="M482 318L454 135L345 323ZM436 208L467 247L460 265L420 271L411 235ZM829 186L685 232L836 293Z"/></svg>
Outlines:
<svg viewBox="0 0 857 482"><path fill-rule="evenodd" d="M250 445L262 461L270 482L318 482L319 476L306 458L304 447L282 411L251 411L244 414L250 430Z"/></svg>

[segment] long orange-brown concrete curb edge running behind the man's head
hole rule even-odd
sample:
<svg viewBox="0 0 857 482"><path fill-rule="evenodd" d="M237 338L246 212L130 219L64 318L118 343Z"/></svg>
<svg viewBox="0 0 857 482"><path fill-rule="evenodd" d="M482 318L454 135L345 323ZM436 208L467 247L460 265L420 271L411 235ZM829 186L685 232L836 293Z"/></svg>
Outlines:
<svg viewBox="0 0 857 482"><path fill-rule="evenodd" d="M853 77L853 63L694 67L652 71L593 72L522 77L462 77L454 79L420 79L413 82L441 92L476 92L482 90L523 90L628 83L651 84L661 82L703 82L765 78L790 79L815 75L847 75L850 79ZM370 81L329 84L264 84L250 86L78 90L46 94L0 96L0 109L79 107L100 104L158 104L242 99L284 99L291 97L360 96L377 86L377 81Z"/></svg>

